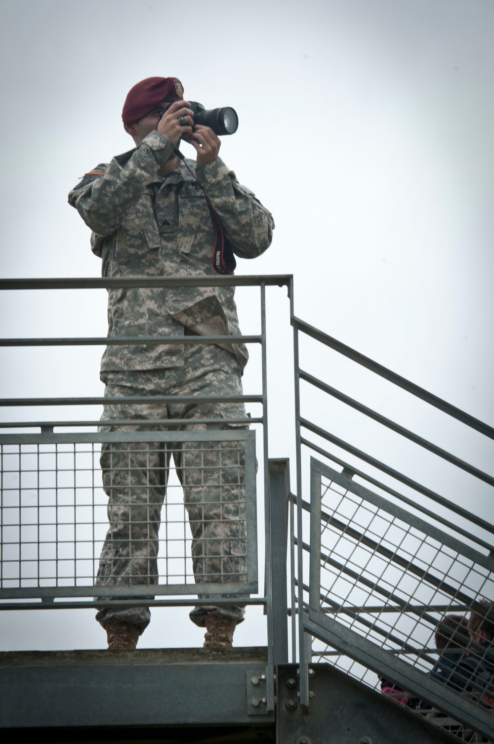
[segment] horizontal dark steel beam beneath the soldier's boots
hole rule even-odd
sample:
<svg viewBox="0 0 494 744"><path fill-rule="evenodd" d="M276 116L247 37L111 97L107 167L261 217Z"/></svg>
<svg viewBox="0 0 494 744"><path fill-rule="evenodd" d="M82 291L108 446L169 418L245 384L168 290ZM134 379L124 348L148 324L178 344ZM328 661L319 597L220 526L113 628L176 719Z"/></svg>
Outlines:
<svg viewBox="0 0 494 744"><path fill-rule="evenodd" d="M274 722L251 713L266 664L265 648L3 653L0 728Z"/></svg>

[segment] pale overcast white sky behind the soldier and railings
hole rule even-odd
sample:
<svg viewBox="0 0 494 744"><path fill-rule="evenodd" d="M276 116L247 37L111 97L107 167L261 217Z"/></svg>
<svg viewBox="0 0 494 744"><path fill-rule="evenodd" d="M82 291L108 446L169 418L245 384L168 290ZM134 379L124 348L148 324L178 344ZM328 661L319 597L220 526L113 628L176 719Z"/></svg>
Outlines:
<svg viewBox="0 0 494 744"><path fill-rule="evenodd" d="M129 88L144 77L177 76L186 97L237 109L239 130L223 139L220 154L275 217L272 247L254 263L239 260L237 273L292 273L299 317L492 426L493 1L190 0L182 7L3 0L1 275L100 275L68 190L132 147L121 124ZM251 304L238 296L247 332ZM104 292L4 292L1 335L104 336L105 304ZM270 455L283 457L293 453L285 425L292 397L278 382L291 376L283 290L269 292L269 308ZM359 382L310 344L307 352L311 371L330 384L492 469L493 448L480 437ZM100 353L5 352L1 396L100 395ZM246 391L254 385L249 374ZM331 423L324 416L319 423L391 465L409 465L408 449L375 440L365 423L336 408L328 409ZM22 412L26 420L41 415ZM15 416L4 411L4 420ZM427 485L492 519L488 487L425 467ZM292 461L293 487L294 469ZM413 467L407 472L423 480ZM76 641L51 613L26 614L7 613L2 647L103 643L92 613ZM240 643L255 643L257 632L263 640L262 618L247 626ZM158 620L152 628L144 645L180 645L160 636Z"/></svg>

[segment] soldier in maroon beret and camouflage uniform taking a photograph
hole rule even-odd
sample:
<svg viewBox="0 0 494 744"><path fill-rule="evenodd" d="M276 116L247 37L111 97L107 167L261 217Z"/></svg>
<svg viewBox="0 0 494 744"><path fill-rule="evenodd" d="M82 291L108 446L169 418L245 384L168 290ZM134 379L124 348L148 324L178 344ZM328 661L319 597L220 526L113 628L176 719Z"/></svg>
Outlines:
<svg viewBox="0 0 494 744"><path fill-rule="evenodd" d="M193 125L193 110L174 77L150 77L126 97L122 119L135 148L86 173L68 200L92 229L103 277L190 277L231 273L233 252L254 258L272 240L272 216L218 157L220 141ZM196 161L177 150L181 139ZM182 159L183 158L183 159ZM233 252L232 252L233 251ZM233 287L110 289L109 336L240 335ZM150 420L101 431L153 431L153 419L179 419L176 429L227 429L246 419L243 404L153 405L153 396L242 395L244 344L141 344L106 347L100 377L105 397L147 396L144 404L104 406L102 420ZM216 423L193 423L195 419ZM158 528L170 455L184 489L196 582L246 581L244 454L239 443L103 444L100 464L109 496L109 530L97 585L158 581ZM205 458L205 459L204 459ZM228 473L219 488L219 464ZM204 466L204 463L206 466ZM202 480L201 480L202 479ZM228 481L228 482L226 482ZM196 607L205 647L231 646L245 609ZM97 620L110 649L135 648L149 608L102 608Z"/></svg>

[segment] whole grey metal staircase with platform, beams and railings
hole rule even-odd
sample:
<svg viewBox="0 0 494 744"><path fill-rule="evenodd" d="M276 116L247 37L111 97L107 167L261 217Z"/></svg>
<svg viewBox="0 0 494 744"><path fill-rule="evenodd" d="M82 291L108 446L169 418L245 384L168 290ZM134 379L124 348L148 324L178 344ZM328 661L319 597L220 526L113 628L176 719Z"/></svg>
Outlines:
<svg viewBox="0 0 494 744"><path fill-rule="evenodd" d="M208 281L185 283L202 286ZM132 282L132 286L177 284L163 278L3 280L0 290L56 292L131 286ZM492 446L494 429L297 318L291 276L218 278L214 283L259 292L260 333L243 341L260 346L260 390L242 400L260 408L250 422L261 437L256 440L257 431L244 430L228 436L210 430L193 436L182 433L182 437L196 437L206 449L208 443L228 439L245 454L246 582L239 588L229 583L228 576L222 577L221 596L222 601L234 603L238 600L228 596L240 593L247 605L264 607L267 647L216 652L137 650L117 655L4 652L0 654L0 726L5 737L176 744L494 740L490 681L481 679L471 666L470 672L461 673L461 690L447 684L447 677L441 682L430 674L440 657L434 633L446 615L468 617L476 612L485 616L486 623L490 621L486 601L494 599L494 527L449 498L447 490L440 494L427 485L434 481L428 469L431 462L439 463L446 484L458 477L465 493L470 488L473 493L472 484L480 483L484 498L490 496L494 478L398 422L410 405L407 401L418 400L417 406L428 406L444 420L452 420L453 428L474 432L474 444L483 440ZM277 427L268 397L268 385L275 381L266 362L269 286L286 287L290 301L296 493L290 487L289 461L269 459L268 410L271 431ZM193 336L187 339L196 342ZM152 343L153 339L118 342L131 341ZM217 339L202 337L201 341ZM68 347L107 342L104 338L31 338L1 339L0 345ZM324 356L328 354L332 356ZM336 356L349 365L343 377L348 375L349 387L362 397L370 373L386 381L380 400L385 411L397 411L396 421L350 397L344 385L330 384ZM359 370L366 376L363 382ZM195 596L198 591L212 596L211 585L193 583L187 517L180 486L173 481L165 503L167 530L160 533L155 598L149 599L149 586L104 590L94 586L106 530L106 497L98 463L101 443L112 440L117 446L138 446L152 439L158 446L169 446L177 440L176 432L98 433L92 411L101 400L94 397L0 403L16 412L12 420L0 424L4 432L0 434L0 609L77 610L101 603L187 607L211 602ZM41 405L50 417L34 420L32 414L29 418L22 414ZM85 406L89 413L77 420L55 417L54 411L73 411L74 405ZM368 424L361 420L370 421L375 429L366 429ZM395 437L389 448L384 439L378 449L389 452L382 458L386 462L373 454L373 437L379 436L374 432L381 428ZM343 438L346 430L351 443ZM370 432L366 436L371 446L366 449L361 445L362 431ZM420 451L426 452L426 460L417 455ZM424 478L419 478L423 483L415 479L417 471L423 472ZM256 490L262 493L257 501L259 507L263 504L264 517L260 545ZM260 551L263 591L257 579ZM488 666L492 647L475 640L467 645L470 658L482 657ZM378 675L391 681L400 694L383 695Z"/></svg>

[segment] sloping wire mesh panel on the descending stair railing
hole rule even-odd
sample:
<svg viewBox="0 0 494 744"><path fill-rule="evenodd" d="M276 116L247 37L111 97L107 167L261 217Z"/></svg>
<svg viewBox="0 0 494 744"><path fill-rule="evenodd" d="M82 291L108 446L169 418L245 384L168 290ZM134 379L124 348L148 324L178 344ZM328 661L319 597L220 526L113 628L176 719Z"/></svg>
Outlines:
<svg viewBox="0 0 494 744"><path fill-rule="evenodd" d="M492 736L493 554L352 476L312 458L307 624L325 642L312 655L458 736L458 720Z"/></svg>

